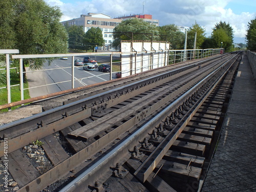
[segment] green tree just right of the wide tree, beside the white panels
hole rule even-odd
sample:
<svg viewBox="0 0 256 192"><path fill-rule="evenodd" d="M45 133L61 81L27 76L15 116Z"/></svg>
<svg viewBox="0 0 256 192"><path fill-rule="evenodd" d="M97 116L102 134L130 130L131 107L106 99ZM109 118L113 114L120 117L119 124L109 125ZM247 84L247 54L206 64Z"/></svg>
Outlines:
<svg viewBox="0 0 256 192"><path fill-rule="evenodd" d="M161 26L158 27L158 30L160 35L166 35L167 41L170 42L171 49L184 49L185 35L176 25Z"/></svg>

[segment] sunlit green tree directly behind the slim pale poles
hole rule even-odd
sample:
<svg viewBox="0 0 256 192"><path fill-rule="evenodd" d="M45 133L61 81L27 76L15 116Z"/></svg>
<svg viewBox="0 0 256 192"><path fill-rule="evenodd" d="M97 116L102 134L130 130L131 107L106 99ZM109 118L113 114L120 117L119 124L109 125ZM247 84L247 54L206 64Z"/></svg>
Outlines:
<svg viewBox="0 0 256 192"><path fill-rule="evenodd" d="M187 49L194 49L196 36L196 49L201 49L205 40L205 29L195 22L195 24L187 31Z"/></svg>

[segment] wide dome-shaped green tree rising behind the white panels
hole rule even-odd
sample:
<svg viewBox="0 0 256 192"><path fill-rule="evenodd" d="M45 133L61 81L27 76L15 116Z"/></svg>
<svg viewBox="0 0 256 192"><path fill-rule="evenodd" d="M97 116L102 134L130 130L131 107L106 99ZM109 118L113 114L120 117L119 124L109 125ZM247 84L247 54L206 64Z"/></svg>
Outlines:
<svg viewBox="0 0 256 192"><path fill-rule="evenodd" d="M122 22L114 29L113 47L120 48L121 40L159 40L158 28L143 19L130 18Z"/></svg>

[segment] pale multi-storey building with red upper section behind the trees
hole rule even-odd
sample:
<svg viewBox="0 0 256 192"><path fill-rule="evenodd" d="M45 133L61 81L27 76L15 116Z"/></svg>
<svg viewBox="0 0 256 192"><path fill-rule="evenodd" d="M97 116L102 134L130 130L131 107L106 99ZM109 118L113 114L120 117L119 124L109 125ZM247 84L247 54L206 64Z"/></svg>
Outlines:
<svg viewBox="0 0 256 192"><path fill-rule="evenodd" d="M80 15L79 18L74 18L71 20L67 20L65 22L61 22L62 25L68 23L69 26L77 25L83 26L83 31L86 33L91 27L99 27L102 31L102 36L105 41L105 45L103 47L99 47L99 50L110 50L113 42L113 29L118 26L119 23L122 22L123 19L128 18L142 18L146 22L154 24L158 26L159 22L157 19L152 19L152 15L130 15L123 16L117 18L111 18L110 15L106 15L104 13L88 13Z"/></svg>

